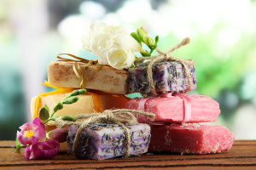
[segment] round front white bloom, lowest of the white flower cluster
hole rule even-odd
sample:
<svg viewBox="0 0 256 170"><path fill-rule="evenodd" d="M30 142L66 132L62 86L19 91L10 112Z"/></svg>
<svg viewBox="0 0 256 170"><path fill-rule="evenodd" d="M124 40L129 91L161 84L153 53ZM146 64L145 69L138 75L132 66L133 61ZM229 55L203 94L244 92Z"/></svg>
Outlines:
<svg viewBox="0 0 256 170"><path fill-rule="evenodd" d="M122 70L129 68L135 60L131 50L126 51L122 48L111 48L107 54L108 64L115 69Z"/></svg>

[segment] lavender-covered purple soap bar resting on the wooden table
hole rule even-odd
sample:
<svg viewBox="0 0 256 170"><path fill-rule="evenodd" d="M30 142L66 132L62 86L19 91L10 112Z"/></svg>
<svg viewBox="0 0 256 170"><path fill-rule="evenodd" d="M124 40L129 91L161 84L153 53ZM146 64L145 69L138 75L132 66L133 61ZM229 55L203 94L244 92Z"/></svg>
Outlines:
<svg viewBox="0 0 256 170"><path fill-rule="evenodd" d="M70 126L67 137L67 153L73 153L73 140L78 127ZM138 123L129 127L131 145L129 154L139 155L148 151L151 134L148 124ZM73 153L80 159L103 160L125 154L124 129L116 124L93 123L84 128L79 136L78 151Z"/></svg>

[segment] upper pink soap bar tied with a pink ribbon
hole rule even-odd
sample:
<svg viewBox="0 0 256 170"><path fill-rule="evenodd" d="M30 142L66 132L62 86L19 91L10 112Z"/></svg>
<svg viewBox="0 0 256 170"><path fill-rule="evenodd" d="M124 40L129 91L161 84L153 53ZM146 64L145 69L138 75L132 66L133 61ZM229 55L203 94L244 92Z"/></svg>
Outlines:
<svg viewBox="0 0 256 170"><path fill-rule="evenodd" d="M217 121L220 113L217 101L207 96L183 95L191 101L191 117L186 122ZM154 113L154 122L183 122L184 120L184 100L177 96L131 99L126 103L126 108ZM137 116L137 119L138 122L148 122L145 116Z"/></svg>

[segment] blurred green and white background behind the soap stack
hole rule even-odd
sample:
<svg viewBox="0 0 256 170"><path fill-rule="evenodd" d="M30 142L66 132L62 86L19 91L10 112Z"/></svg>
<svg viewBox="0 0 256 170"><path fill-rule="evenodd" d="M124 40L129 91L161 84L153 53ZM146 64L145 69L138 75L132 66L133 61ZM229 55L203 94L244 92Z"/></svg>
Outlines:
<svg viewBox="0 0 256 170"><path fill-rule="evenodd" d="M80 37L103 20L127 31L144 26L172 55L195 59L198 88L216 99L215 124L236 139L256 139L255 0L2 0L0 2L0 139L15 139L30 120L30 99L48 89L47 65L60 53L93 56Z"/></svg>

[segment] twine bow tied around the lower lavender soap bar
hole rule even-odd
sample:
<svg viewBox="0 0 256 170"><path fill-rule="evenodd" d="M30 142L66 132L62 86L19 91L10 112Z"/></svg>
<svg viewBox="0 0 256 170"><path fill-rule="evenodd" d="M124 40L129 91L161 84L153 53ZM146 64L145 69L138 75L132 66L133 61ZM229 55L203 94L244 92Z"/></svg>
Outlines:
<svg viewBox="0 0 256 170"><path fill-rule="evenodd" d="M78 125L79 129L75 135L73 141L73 153L76 153L78 150L79 136L82 133L83 129L88 126L90 123L112 123L118 124L125 131L125 157L129 156L129 150L131 145L131 133L129 128L126 125L137 124L137 118L133 116L132 113L138 115L148 116L154 120L154 114L146 111L137 111L137 110L127 110L127 109L118 109L118 110L106 110L103 113L92 113L84 114L76 117L75 122L67 122L63 120L56 120L56 127L63 127L67 125Z"/></svg>

